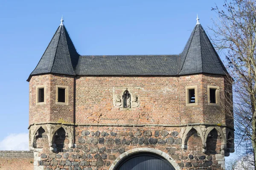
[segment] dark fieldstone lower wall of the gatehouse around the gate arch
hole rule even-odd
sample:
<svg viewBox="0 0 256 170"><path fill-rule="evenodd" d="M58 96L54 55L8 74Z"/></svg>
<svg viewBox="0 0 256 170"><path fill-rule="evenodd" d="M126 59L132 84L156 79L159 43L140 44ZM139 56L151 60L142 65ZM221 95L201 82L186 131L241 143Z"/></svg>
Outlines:
<svg viewBox="0 0 256 170"><path fill-rule="evenodd" d="M35 149L39 158L35 165L45 170L108 170L122 153L135 148L154 148L168 154L180 169L222 170L224 167L219 139L207 139L219 143L214 146L215 153L202 153L202 141L196 142L194 138L188 138L188 148L200 150L182 149L180 127L79 126L75 133L74 148L65 147L62 152Z"/></svg>

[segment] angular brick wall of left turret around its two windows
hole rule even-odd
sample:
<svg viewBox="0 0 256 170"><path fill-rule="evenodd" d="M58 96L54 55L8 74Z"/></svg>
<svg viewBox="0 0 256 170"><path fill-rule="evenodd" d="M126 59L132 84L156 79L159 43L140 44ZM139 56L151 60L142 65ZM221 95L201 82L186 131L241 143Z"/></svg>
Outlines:
<svg viewBox="0 0 256 170"><path fill-rule="evenodd" d="M36 105L36 87L38 85L45 85L46 88L45 104L43 105ZM55 104L56 85L68 86L68 105ZM29 82L29 92L29 125L42 122L73 123L73 77L59 77L51 74L34 76Z"/></svg>

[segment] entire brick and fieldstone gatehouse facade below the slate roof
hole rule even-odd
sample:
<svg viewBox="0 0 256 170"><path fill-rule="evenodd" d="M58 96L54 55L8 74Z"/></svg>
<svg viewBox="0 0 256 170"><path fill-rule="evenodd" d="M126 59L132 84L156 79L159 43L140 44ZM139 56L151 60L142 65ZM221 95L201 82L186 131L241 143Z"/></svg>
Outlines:
<svg viewBox="0 0 256 170"><path fill-rule="evenodd" d="M226 138L227 117L222 105L225 102L224 81L223 76L209 74L75 79L58 75L34 76L29 82L32 91L30 134L35 134L42 126L50 137L36 141L43 149L35 150L38 155L35 164L47 170L107 170L120 154L128 150L154 148L168 154L183 169L210 167L221 170L224 167L225 146L221 139ZM45 105L34 103L37 85L45 85L51 91L46 92ZM56 85L68 86L68 105L55 104ZM219 105L208 104L208 85L220 89ZM197 88L196 105L186 105L188 86ZM118 101L125 90L131 94L131 108L123 108ZM137 105L133 105L136 98ZM56 138L57 126L66 131L65 139ZM189 133L185 131L191 126L197 130L192 130L185 138ZM218 132L212 127L216 127ZM211 134L216 133L215 138L207 139L205 135L211 130ZM186 147L183 148L184 141ZM63 149L54 150L56 145L62 143ZM214 147L215 153L205 152Z"/></svg>

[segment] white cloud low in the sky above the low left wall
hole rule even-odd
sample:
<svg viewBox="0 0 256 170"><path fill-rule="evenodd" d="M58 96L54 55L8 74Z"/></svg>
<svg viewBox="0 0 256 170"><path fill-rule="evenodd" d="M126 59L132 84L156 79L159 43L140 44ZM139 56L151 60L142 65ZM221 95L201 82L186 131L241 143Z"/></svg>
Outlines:
<svg viewBox="0 0 256 170"><path fill-rule="evenodd" d="M6 136L0 141L0 150L29 150L29 133Z"/></svg>

